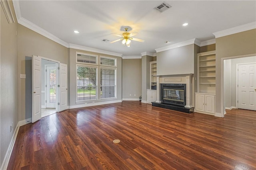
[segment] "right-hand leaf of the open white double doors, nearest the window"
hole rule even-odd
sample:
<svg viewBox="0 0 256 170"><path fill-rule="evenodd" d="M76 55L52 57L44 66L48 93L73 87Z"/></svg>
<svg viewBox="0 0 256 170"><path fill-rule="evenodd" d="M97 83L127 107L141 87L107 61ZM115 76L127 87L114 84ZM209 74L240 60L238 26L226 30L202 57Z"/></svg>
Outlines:
<svg viewBox="0 0 256 170"><path fill-rule="evenodd" d="M59 111L68 109L68 66L67 64L60 63L59 70L59 85L60 85L60 98L59 98Z"/></svg>

